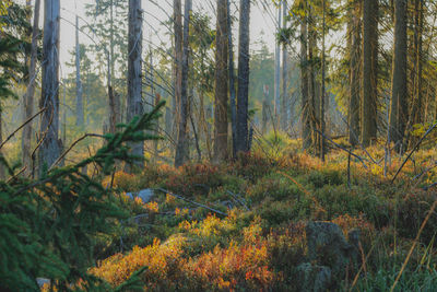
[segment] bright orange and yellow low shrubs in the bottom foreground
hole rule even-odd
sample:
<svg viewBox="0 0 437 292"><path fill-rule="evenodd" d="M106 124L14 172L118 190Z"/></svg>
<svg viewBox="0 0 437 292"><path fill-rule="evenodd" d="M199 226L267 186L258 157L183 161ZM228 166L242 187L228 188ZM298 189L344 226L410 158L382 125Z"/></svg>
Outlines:
<svg viewBox="0 0 437 292"><path fill-rule="evenodd" d="M175 234L165 243L156 240L144 248L134 247L125 256L117 254L101 261L91 272L115 287L145 266L144 291L267 291L277 275L269 267L269 242L260 236L260 220L244 230L241 244L229 236L227 244L216 243L210 250L190 256L189 246L197 245L193 236L223 238L235 224L214 217L205 221L185 221L180 226L185 233Z"/></svg>

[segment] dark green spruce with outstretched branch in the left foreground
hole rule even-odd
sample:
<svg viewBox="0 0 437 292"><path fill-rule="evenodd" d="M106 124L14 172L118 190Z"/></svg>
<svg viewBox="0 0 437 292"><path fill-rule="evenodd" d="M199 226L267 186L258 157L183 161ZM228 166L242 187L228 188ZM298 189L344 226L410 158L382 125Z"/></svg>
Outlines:
<svg viewBox="0 0 437 292"><path fill-rule="evenodd" d="M0 182L1 291L38 291L36 278L50 279L58 291L105 291L102 280L88 273L96 235L111 234L128 212L99 183L102 177L88 177L81 170L94 164L108 175L116 159L138 161L126 143L158 139L146 131L154 129L163 105L123 125L123 131L106 135L106 144L95 155L75 165L43 170L38 179L15 175L0 155L12 177Z"/></svg>

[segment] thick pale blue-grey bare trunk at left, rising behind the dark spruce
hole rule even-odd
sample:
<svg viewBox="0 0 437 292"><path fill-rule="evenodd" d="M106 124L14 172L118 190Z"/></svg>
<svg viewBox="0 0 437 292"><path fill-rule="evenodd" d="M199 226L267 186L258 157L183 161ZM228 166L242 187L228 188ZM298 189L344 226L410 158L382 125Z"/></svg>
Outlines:
<svg viewBox="0 0 437 292"><path fill-rule="evenodd" d="M43 42L43 86L40 108L46 108L40 121L43 142L39 148L39 170L50 167L59 157L59 20L60 0L45 0ZM40 173L40 172L39 172Z"/></svg>

